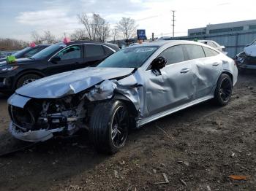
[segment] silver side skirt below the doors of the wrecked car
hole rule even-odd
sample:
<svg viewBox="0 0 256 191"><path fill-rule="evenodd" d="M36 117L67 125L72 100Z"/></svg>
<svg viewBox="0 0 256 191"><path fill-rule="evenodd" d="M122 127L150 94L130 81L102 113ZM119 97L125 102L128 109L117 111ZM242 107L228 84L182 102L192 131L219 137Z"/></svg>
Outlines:
<svg viewBox="0 0 256 191"><path fill-rule="evenodd" d="M209 100L211 98L214 98L214 95L208 95L206 97L199 98L199 99L197 99L195 101L189 102L188 104L184 104L182 106L177 106L176 108L168 109L168 110L166 110L164 112L160 112L160 113L154 114L154 115L152 115L150 117L146 117L145 119L138 120L137 121L137 127L140 128L142 125L146 125L146 123L148 123L148 122L152 122L152 121L157 120L157 119L159 119L161 117L165 117L168 114L172 114L174 112L178 112L181 109L185 109L185 108L187 108L189 106L193 106L195 104L199 104L199 103L201 103L203 101L207 101L207 100Z"/></svg>

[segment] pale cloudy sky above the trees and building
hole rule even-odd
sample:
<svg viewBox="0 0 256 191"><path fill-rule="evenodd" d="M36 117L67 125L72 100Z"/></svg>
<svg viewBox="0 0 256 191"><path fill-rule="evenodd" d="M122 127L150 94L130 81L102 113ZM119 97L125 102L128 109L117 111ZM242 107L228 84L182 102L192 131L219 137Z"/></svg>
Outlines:
<svg viewBox="0 0 256 191"><path fill-rule="evenodd" d="M256 19L255 0L0 0L0 37L31 40L31 31L50 31L61 37L77 28L77 15L95 12L115 26L132 17L146 35L170 36L170 10L176 10L175 36L207 24Z"/></svg>

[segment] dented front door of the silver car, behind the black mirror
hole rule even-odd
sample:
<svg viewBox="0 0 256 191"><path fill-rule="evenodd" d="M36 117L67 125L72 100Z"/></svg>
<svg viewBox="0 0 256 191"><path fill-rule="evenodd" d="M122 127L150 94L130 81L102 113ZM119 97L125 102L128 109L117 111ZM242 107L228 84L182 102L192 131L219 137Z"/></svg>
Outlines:
<svg viewBox="0 0 256 191"><path fill-rule="evenodd" d="M189 103L194 98L192 66L184 54L184 45L169 47L159 56L167 63L161 74L146 71L146 106L153 115Z"/></svg>

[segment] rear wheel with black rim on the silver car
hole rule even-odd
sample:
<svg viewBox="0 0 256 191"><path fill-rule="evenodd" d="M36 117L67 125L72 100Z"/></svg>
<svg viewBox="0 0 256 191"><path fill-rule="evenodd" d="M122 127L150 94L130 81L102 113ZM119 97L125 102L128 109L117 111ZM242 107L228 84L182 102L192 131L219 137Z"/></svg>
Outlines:
<svg viewBox="0 0 256 191"><path fill-rule="evenodd" d="M230 101L233 84L229 75L222 74L214 92L214 104L225 106Z"/></svg>

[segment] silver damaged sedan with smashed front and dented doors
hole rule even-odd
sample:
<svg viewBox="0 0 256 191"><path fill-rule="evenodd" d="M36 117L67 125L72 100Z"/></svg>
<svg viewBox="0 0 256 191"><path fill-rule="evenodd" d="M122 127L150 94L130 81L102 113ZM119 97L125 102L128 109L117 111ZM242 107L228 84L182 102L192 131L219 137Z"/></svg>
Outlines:
<svg viewBox="0 0 256 191"><path fill-rule="evenodd" d="M225 106L237 75L234 61L206 44L138 44L97 67L20 87L8 100L10 132L37 142L86 128L99 152L113 154L124 147L129 128L210 99Z"/></svg>

